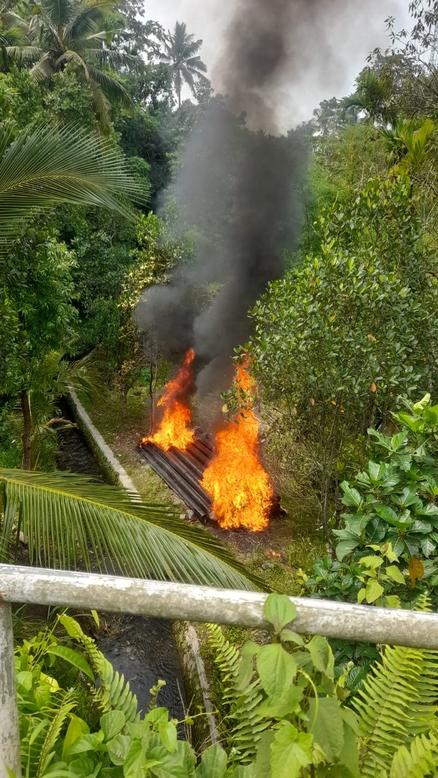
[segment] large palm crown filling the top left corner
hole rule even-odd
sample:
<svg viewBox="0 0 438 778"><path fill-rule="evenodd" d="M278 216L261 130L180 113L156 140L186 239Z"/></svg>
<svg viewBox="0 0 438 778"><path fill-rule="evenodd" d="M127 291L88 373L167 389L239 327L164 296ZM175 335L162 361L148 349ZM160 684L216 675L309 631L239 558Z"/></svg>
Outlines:
<svg viewBox="0 0 438 778"><path fill-rule="evenodd" d="M114 0L35 0L29 22L16 12L6 13L8 22L31 44L35 64L30 72L37 82L48 84L69 63L76 66L79 79L92 93L102 131L108 130L112 102L131 105L113 70L142 66L139 57L105 47L115 31L102 28L114 12Z"/></svg>

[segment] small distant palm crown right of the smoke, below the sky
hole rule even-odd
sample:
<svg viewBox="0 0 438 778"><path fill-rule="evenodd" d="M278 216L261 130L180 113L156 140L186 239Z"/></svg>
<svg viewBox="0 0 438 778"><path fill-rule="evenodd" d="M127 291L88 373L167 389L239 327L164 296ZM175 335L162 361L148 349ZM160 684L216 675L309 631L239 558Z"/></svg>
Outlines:
<svg viewBox="0 0 438 778"><path fill-rule="evenodd" d="M364 70L357 79L358 88L355 93L344 97L341 101L343 114L355 108L367 114L366 121L373 124L392 124L396 121L397 110L391 104L387 86L371 69Z"/></svg>

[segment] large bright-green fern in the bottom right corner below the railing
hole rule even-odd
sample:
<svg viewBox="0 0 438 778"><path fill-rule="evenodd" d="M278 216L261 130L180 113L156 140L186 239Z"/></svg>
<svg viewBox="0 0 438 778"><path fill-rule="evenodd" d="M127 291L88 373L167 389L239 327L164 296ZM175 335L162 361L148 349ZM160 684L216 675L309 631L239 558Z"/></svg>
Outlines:
<svg viewBox="0 0 438 778"><path fill-rule="evenodd" d="M421 598L417 608L427 610L427 598ZM351 701L359 714L363 778L389 771L402 745L408 747L430 731L437 699L438 652L385 647L382 664L373 666Z"/></svg>

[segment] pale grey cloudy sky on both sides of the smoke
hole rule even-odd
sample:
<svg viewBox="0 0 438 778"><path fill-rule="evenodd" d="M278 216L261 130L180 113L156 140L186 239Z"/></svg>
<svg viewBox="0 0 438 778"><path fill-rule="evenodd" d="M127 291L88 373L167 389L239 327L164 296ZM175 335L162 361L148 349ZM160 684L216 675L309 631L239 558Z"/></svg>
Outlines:
<svg viewBox="0 0 438 778"><path fill-rule="evenodd" d="M203 39L200 50L214 84L214 72L224 47L224 34L237 0L146 0L144 16L155 19L166 29L175 21L185 22L189 33ZM270 2L270 0L266 0ZM330 0L328 0L330 2ZM291 0L293 4L293 0ZM394 16L396 27L409 28L409 0L345 0L345 12L337 14L327 30L332 52L331 66L306 68L306 72L286 75L277 93L281 128L286 130L307 121L321 100L351 93L356 75L366 65L366 56L376 46L385 47L384 20ZM309 40L309 46L312 40ZM189 93L184 96L189 96Z"/></svg>

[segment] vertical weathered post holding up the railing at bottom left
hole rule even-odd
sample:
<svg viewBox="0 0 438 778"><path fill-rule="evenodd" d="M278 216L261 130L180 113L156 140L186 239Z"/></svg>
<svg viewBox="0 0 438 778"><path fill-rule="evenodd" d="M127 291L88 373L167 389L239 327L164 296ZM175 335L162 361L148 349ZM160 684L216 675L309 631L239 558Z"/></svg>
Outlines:
<svg viewBox="0 0 438 778"><path fill-rule="evenodd" d="M0 596L0 778L9 778L6 768L21 778L12 608Z"/></svg>

